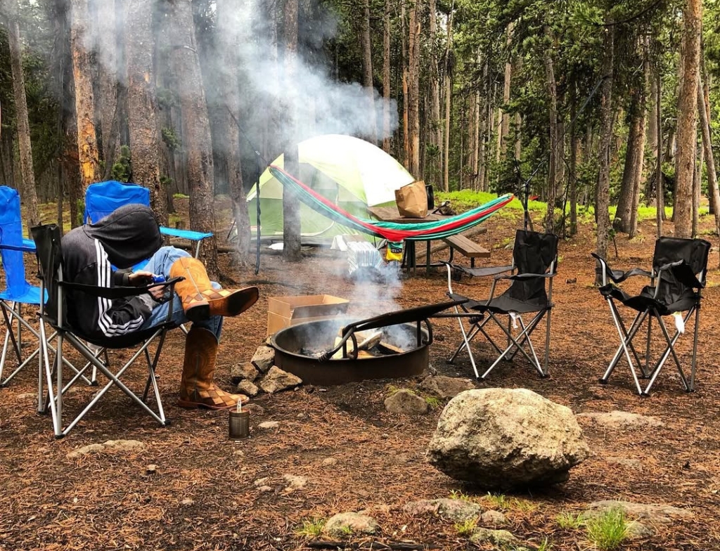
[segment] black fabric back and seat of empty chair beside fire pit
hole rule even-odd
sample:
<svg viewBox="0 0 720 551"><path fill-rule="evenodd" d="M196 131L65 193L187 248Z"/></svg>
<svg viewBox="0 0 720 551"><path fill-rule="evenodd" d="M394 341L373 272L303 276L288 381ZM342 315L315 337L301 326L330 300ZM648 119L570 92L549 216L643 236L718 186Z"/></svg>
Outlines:
<svg viewBox="0 0 720 551"><path fill-rule="evenodd" d="M557 258L557 242L558 237L555 234L518 229L513 247L513 261L517 273L547 273ZM513 281L508 291L503 294L516 301L539 306L544 306L548 302L544 278Z"/></svg>

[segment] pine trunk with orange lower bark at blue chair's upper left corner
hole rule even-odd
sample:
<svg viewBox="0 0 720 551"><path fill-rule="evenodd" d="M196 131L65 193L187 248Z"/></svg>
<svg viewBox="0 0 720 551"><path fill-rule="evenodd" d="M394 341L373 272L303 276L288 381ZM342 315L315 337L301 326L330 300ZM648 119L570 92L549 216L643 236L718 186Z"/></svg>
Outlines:
<svg viewBox="0 0 720 551"><path fill-rule="evenodd" d="M71 51L75 83L75 112L78 127L78 159L80 162L81 200L87 186L98 180L99 152L95 134L95 102L90 70L90 53L86 45L88 0L71 0Z"/></svg>

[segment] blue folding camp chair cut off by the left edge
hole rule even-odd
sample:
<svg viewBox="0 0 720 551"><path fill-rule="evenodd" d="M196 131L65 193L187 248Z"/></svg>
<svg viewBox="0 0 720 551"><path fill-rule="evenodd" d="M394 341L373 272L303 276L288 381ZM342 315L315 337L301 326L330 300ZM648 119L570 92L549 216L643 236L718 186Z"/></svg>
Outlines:
<svg viewBox="0 0 720 551"><path fill-rule="evenodd" d="M22 237L20 196L13 188L0 186L0 255L6 286L5 290L0 292L0 310L5 320L5 337L0 355L0 386L6 386L12 381L40 352L40 348L36 347L29 355L22 354L23 329L40 339L40 333L22 313L23 306L31 306L37 311L41 296L40 287L30 285L25 279L25 252L35 254L35 242ZM35 317L35 314L32 315ZM54 350L53 347L50 348ZM17 358L17 368L3 378L8 353L12 355L13 352ZM64 360L64 363L75 369L68 360ZM83 379L86 383L91 383L88 378Z"/></svg>

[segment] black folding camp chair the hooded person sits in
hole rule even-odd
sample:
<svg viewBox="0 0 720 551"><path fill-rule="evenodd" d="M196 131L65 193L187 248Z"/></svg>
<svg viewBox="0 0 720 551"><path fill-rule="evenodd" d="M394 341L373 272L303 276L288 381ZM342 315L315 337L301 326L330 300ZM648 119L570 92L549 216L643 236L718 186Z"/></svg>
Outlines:
<svg viewBox="0 0 720 551"><path fill-rule="evenodd" d="M172 304L170 304L168 309L166 321L161 325L150 329L122 334L117 337L98 339L81 334L76 328L68 324L65 293L67 290L73 290L102 299L114 300L138 296L140 293L147 293L150 287L161 285L169 287L170 292L168 294L170 301L172 301L175 294L174 285L182 278L173 278L164 283L152 283L150 286L142 287L99 287L63 281L63 253L60 245L60 229L55 224L49 224L34 227L31 229L31 232L37 247L38 277L40 278L41 289L42 292L47 291L48 293L47 303L40 306L40 369L44 370L44 377L40 377L38 385L40 396L43 396L45 393L44 385L47 385L47 394L45 395L44 404L39 405L38 412L46 414L48 413L48 409L50 410L50 414L52 414L53 417L55 437L62 438L66 436L97 402L102 399L104 394L107 393L112 386L120 388L133 403L140 406L140 409L145 411L146 414L150 415L159 424L168 424L158 390L155 368L160 358L166 333L169 329L177 327L176 324L171 321L171 313L173 311ZM52 367L50 367L52 349L48 346L46 326L57 332L57 342ZM157 347L153 357L150 358L149 346L150 343L155 340L157 340ZM63 379L63 353L65 352L64 346L66 343L71 345L87 361L86 367L78 370L78 373L73 374L68 381ZM113 370L107 361L107 354L104 354L104 352L107 352L108 349L133 347L139 348L132 354L130 360L128 360L125 365L122 365L122 367ZM142 398L121 381L122 375L124 375L127 369L130 368L130 365L132 365L140 355L145 356L148 364L148 379L145 383L145 391ZM105 361L100 359L102 356L104 356ZM84 370L88 368L89 365L94 366L100 373L105 375L108 383L94 394L89 403L84 406L84 409L82 409L79 414L76 414L71 422L63 424L63 395L78 381L78 378L83 375ZM153 409L150 409L150 406L145 404L150 388L153 389L157 411L153 411Z"/></svg>

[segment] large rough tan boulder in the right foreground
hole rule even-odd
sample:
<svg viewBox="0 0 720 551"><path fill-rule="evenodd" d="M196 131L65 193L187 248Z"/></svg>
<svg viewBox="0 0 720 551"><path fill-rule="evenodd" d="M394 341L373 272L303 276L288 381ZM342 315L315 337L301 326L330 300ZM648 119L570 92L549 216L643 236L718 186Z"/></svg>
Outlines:
<svg viewBox="0 0 720 551"><path fill-rule="evenodd" d="M567 481L588 453L569 408L524 388L487 388L449 401L428 459L451 478L507 491Z"/></svg>

